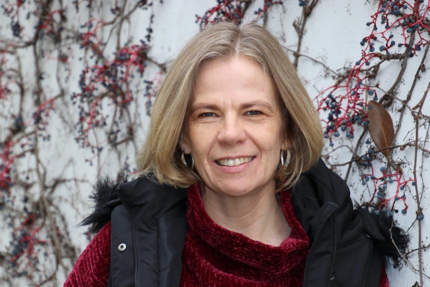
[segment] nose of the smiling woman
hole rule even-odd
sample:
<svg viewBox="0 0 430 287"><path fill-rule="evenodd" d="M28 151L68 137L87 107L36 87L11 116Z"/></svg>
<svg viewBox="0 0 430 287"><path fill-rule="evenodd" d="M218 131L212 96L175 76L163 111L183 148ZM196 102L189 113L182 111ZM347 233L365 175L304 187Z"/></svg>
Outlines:
<svg viewBox="0 0 430 287"><path fill-rule="evenodd" d="M220 143L233 145L246 139L245 126L237 117L225 117L220 123L217 140Z"/></svg>

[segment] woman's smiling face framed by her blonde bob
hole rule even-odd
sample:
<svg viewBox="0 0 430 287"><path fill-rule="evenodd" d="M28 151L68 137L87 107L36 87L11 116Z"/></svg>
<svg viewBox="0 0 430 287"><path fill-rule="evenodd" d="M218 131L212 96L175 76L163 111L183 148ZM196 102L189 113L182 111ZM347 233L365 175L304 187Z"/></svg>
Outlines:
<svg viewBox="0 0 430 287"><path fill-rule="evenodd" d="M275 190L281 109L272 81L246 57L204 62L181 148L192 153L204 192L243 196Z"/></svg>

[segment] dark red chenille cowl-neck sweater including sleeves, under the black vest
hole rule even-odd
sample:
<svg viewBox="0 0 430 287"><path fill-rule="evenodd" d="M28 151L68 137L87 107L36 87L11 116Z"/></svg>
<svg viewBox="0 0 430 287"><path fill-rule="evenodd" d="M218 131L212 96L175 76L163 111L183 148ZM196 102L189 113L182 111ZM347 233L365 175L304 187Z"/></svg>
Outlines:
<svg viewBox="0 0 430 287"><path fill-rule="evenodd" d="M188 230L181 287L301 286L309 241L294 215L290 194L281 207L291 235L279 247L253 241L216 225L206 213L198 186L188 190ZM111 224L106 224L77 260L65 287L105 287L109 277ZM380 287L389 287L382 270Z"/></svg>

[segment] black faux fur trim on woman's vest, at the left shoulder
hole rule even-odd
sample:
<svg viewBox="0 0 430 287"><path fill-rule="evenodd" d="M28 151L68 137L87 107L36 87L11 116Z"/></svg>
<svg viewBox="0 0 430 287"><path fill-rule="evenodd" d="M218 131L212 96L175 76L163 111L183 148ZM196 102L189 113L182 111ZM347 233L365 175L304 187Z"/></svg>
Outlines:
<svg viewBox="0 0 430 287"><path fill-rule="evenodd" d="M88 226L89 233L96 234L111 220L112 210L121 203L117 194L118 185L119 183L115 184L108 179L103 179L94 186L90 196L95 203L93 212L80 223L81 226Z"/></svg>

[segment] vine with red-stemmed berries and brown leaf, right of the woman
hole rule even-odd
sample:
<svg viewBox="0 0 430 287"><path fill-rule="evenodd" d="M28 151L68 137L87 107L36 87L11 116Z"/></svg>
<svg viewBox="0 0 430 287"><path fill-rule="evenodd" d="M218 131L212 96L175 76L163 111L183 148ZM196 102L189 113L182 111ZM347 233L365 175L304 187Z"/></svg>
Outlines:
<svg viewBox="0 0 430 287"><path fill-rule="evenodd" d="M418 238L414 238L416 243L411 242L411 245L418 246L418 267L411 267L411 262L406 257L404 259L419 273L420 286L424 285L423 278L428 278L428 275L423 270L422 254L427 248L422 236L425 215L421 204L425 182L422 174L417 173L417 165L421 165L420 170L423 170L429 157L429 149L426 148L429 114L423 110L429 86L424 88L415 105L410 106L410 103L418 82L428 78L429 8L430 1L424 0L378 1L375 12L365 23L369 34L359 42L361 56L351 66L344 67L344 72L337 73L333 85L316 96L324 137L329 146L344 145L345 138L349 142L350 159L337 161L334 165L348 167L345 178L350 182L353 181L352 169L358 168L361 184L371 195L363 207L370 205L374 207L373 212L388 212L390 216L399 211L406 215L408 202L414 201L416 210L412 226L418 228ZM420 64L418 67L415 65L414 80L410 87L405 88L402 86L407 76L405 71L409 65L414 65L410 59L417 61L416 58L420 59ZM397 77L391 86L384 88L380 83L383 77L381 70L393 62L398 64ZM403 95L401 90L409 92ZM415 122L415 131L414 136L407 136L408 140L405 140L400 138L400 134L402 123L408 116ZM397 120L396 125L392 117ZM413 160L406 158L410 151L414 151Z"/></svg>

